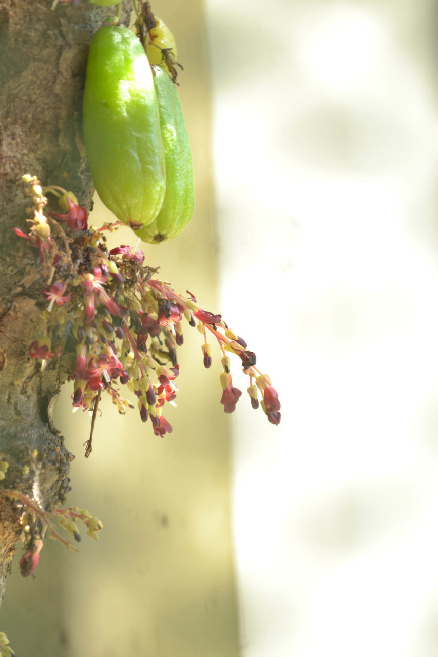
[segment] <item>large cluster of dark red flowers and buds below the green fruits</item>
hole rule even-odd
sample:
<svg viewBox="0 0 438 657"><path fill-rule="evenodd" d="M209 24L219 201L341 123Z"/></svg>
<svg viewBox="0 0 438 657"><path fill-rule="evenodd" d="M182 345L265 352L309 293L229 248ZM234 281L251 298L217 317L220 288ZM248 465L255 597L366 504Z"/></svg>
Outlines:
<svg viewBox="0 0 438 657"><path fill-rule="evenodd" d="M195 296L179 294L170 283L153 277L144 254L131 246L107 250L104 225L87 228L87 213L74 194L59 187L44 191L39 181L24 177L36 210L29 235L39 251L44 277L42 294L48 302L45 330L29 347L29 355L45 361L60 355L66 335L76 341L73 406L95 411L102 391L107 392L120 413L132 407L120 396L126 386L137 398L143 422L151 422L156 436L172 431L163 415L166 403L174 405L178 388L176 348L183 344L183 323L197 327L203 336L203 364L212 363L212 342L220 350L220 374L226 413L232 413L241 390L233 386L230 354L241 361L249 376L247 392L253 408L259 404L271 424L281 419L280 401L267 374L256 367L256 356L243 338L235 334L221 315L205 311ZM45 194L54 194L65 214L44 214ZM66 231L59 220L66 221ZM53 229L53 230L52 230ZM259 401L260 400L260 401ZM91 442L87 452L91 451Z"/></svg>

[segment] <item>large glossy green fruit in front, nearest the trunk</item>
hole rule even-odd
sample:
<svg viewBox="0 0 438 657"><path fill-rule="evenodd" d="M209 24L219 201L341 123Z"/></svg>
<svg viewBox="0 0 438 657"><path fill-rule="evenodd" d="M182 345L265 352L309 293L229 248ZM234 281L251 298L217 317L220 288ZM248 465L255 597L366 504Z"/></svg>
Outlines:
<svg viewBox="0 0 438 657"><path fill-rule="evenodd" d="M104 26L91 41L84 141L97 193L131 228L151 223L166 191L166 165L151 67L137 37Z"/></svg>

